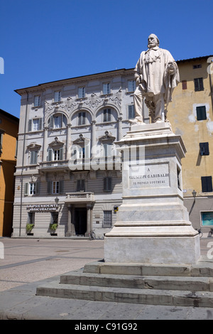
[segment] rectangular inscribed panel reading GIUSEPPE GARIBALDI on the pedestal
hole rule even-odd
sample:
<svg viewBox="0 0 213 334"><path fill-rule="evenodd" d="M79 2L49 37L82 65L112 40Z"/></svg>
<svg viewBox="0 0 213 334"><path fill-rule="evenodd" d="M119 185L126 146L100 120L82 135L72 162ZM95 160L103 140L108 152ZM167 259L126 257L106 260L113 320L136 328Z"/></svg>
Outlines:
<svg viewBox="0 0 213 334"><path fill-rule="evenodd" d="M168 163L129 166L129 188L169 187Z"/></svg>

